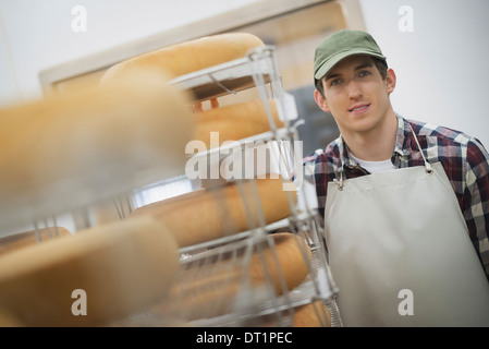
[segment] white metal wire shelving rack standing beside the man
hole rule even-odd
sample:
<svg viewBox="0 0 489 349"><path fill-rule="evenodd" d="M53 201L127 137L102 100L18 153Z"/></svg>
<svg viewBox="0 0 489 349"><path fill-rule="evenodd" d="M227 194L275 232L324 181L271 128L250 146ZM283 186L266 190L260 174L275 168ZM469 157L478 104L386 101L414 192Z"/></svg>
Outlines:
<svg viewBox="0 0 489 349"><path fill-rule="evenodd" d="M278 163L280 164L281 170L284 171L282 178L290 179L294 171L302 171L302 158L297 158L294 149L297 144L295 142L299 142L296 128L303 120L296 120L296 110L293 110L294 105L291 105L290 96L282 88L274 55L273 47L259 47L250 50L242 59L180 76L171 81L171 83L181 88L191 89L196 96L196 100L237 94L241 91L252 87L257 88L268 113L270 131L248 139L239 140L237 143L241 145L243 152L246 148L246 144L257 141L279 144L279 146L274 147L274 151L277 151L274 157L279 159ZM273 122L269 105L270 99L276 101L279 117L283 121L283 128L278 128ZM220 151L222 151L222 147L197 153L193 156L210 156L215 153L221 154L222 152L220 153ZM219 160L222 160L221 155L219 155ZM250 180L253 181L254 179ZM235 180L237 185L241 185L241 181L240 179ZM225 256L229 260L230 255L232 255L232 264L246 269L249 263L246 255L259 253L260 251L258 250L261 243L266 243L267 248L274 250L273 241L270 240L273 232L290 231L294 234L301 234L304 238L313 255L309 264L309 274L298 287L292 290L282 289L282 294L268 293L258 300L253 299L253 294L245 294L245 298L248 300L253 299L253 301L245 302L245 305L237 308L230 305L223 314L212 314L209 312L209 314L200 314L197 318L188 318L185 314L179 313L175 308L173 310L167 309L167 312L160 314L149 313L148 316L154 317L155 323L158 323L159 316L181 316L180 321L188 321L192 325L196 326L260 326L269 324L270 318L274 318L273 326L290 326L292 325L294 309L316 300L321 300L330 312L331 326L342 326L341 316L335 304L338 289L327 263L321 219L317 210L308 206L306 193L301 188L295 191L290 191L289 195L297 195L299 200L301 197L303 200L303 207L297 207L292 200L289 201L292 213L290 217L269 225L266 225L261 217L262 224L259 227L254 227L247 231L198 245L183 248L181 249L181 265L183 273L194 268L194 281L201 277L203 274L217 274L218 272L215 272L213 268L219 269L219 263L210 261L221 261ZM254 201L247 204L258 205L259 207L258 196L255 195ZM236 251L242 251L244 256L240 256ZM184 278L179 282L179 286L182 288L185 288L190 284L188 279ZM206 285L198 291L206 291L205 287L222 288L223 286L222 284L215 286ZM240 294L236 296L236 298L239 297ZM242 298L242 300L245 298ZM229 301L232 302L232 300ZM173 298L167 300L167 302L178 304L179 299Z"/></svg>

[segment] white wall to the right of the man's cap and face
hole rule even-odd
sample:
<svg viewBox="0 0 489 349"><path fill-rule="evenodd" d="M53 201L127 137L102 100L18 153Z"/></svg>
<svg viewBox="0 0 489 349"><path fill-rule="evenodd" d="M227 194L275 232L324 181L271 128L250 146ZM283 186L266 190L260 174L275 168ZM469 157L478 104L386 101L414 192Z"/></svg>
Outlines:
<svg viewBox="0 0 489 349"><path fill-rule="evenodd" d="M413 32L399 23L413 12ZM489 1L360 0L366 29L398 76L391 95L406 118L443 124L489 148ZM406 26L404 26L406 27Z"/></svg>

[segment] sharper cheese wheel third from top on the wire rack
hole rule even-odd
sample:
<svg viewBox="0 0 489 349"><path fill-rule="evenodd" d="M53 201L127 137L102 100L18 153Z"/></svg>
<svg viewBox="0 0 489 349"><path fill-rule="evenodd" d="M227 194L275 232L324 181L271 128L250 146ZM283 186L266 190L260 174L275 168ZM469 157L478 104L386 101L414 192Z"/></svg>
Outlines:
<svg viewBox="0 0 489 349"><path fill-rule="evenodd" d="M266 224L290 216L296 193L283 183L280 176L229 182L138 207L131 216L152 216L181 248L190 246L257 228L261 215Z"/></svg>

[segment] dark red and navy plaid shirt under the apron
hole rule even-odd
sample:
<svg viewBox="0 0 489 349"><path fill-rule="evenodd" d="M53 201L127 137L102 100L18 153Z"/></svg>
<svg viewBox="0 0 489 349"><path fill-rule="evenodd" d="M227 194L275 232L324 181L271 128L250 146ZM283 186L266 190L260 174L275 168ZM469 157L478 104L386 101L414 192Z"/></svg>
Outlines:
<svg viewBox="0 0 489 349"><path fill-rule="evenodd" d="M407 123L418 136L426 159L440 161L453 186L468 227L468 233L489 278L489 155L482 144L460 131L398 118L398 135L392 164L396 168L424 166L423 157ZM350 156L340 136L325 151L318 149L304 158L305 179L316 185L318 209L323 217L328 182L340 178L369 174Z"/></svg>

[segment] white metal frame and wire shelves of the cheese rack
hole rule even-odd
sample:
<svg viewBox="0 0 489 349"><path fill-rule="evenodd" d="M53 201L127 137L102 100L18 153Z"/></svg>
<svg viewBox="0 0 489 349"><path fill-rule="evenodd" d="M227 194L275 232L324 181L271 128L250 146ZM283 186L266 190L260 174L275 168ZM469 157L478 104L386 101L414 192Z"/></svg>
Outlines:
<svg viewBox="0 0 489 349"><path fill-rule="evenodd" d="M249 53L243 59L239 59L232 62L228 62L221 65L212 67L199 72L180 76L171 84L179 85L181 88L197 91L199 99L206 99L210 97L222 96L225 94L234 94L247 88L257 88L259 97L264 103L267 111L268 120L270 123L270 131L265 132L245 140L239 140L237 143L242 146L242 151L245 149L246 142L267 141L277 142L282 145L285 142L285 146L274 147L274 157L279 159L279 164L283 165L284 179L283 183L286 184L285 179L289 180L293 176L294 167L297 169L301 166L295 157L295 142L298 141L296 128L303 122L291 118L291 112L288 110L290 107L285 101L285 93L282 88L280 74L274 57L274 49L270 46L260 47L249 51ZM268 87L268 88L267 88ZM271 98L269 96L271 94ZM271 106L269 100L273 99L278 108L279 117L283 121L284 127L278 128L274 124ZM293 115L293 113L292 113ZM210 149L193 156L208 156L212 152L219 152L219 149ZM299 159L302 160L302 159ZM151 173L148 178L155 178L155 173ZM171 181L172 179L161 179L163 181ZM253 183L256 179L249 179ZM243 180L235 180L239 189L244 193ZM256 184L256 183L255 183ZM151 185L160 185L160 182L148 184L145 186L134 188L133 191L123 191L118 196L113 196L113 205L117 209L120 219L125 219L134 208L133 197L138 190L142 190ZM212 316L208 318L197 318L193 324L206 325L206 326L236 326L249 324L249 321L260 316L274 316L277 324L281 326L291 325L291 316L294 313L294 309L310 303L315 300L321 300L328 305L330 310L332 326L341 326L341 316L335 308L334 297L338 289L334 285L334 280L330 274L329 266L326 258L326 248L323 245L322 226L318 213L307 206L307 198L305 192L301 189L295 191L286 191L288 201L291 209L291 216L279 221L266 224L262 209L260 207L260 200L256 186L253 186L252 198L245 200L242 195L244 207L247 212L250 210L250 206L257 208L258 212L258 226L249 225L249 229L239 232L236 234L228 236L221 239L208 241L203 244L197 244L180 250L182 255L182 266L190 265L191 263L203 263L203 265L210 265L209 258L215 257L217 260L242 251L242 256L237 258L237 254L234 254L234 262L231 264L237 265L245 270L249 267L249 258L254 253L260 255L264 253L264 249L269 249L274 254L276 266L280 272L280 264L277 260L277 252L274 250L274 243L272 236L278 231L290 231L294 234L304 234L304 240L307 243L308 249L311 252L313 258L308 263L309 273L306 279L296 288L289 290L283 272L279 273L281 292L274 293L270 290L271 280L269 278L270 270L267 269L267 265L264 265L265 275L268 278L266 286L268 287L268 293L262 296L257 302L254 302L249 306L241 306L232 312ZM303 195L305 207L297 209L296 204L292 195ZM106 196L102 197L107 200ZM94 203L96 204L96 203ZM77 227L86 228L91 225L90 221L90 206L72 207L74 220L80 219L81 222ZM39 212L44 212L39 209ZM52 216L53 221L53 236L56 236L56 227L58 225L56 215L61 213L54 213ZM36 215L33 215L37 217ZM249 215L248 215L249 217ZM48 218L36 218L33 220L37 236L39 237L39 222L44 222L48 228ZM40 242L40 239L38 239ZM264 246L265 243L265 246ZM205 252L203 252L205 251ZM303 255L307 258L303 251ZM262 258L262 255L259 256ZM243 284L248 282L243 275ZM171 302L172 300L170 300ZM147 314L146 318L154 315ZM143 316L144 317L144 316ZM136 317L134 317L136 318Z"/></svg>

